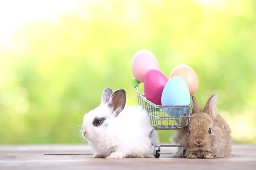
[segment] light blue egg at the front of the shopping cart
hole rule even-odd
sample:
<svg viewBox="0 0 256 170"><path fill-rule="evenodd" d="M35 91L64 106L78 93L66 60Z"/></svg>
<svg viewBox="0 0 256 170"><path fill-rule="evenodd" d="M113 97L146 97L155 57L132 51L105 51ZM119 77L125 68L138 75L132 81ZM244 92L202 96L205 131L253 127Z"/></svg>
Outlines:
<svg viewBox="0 0 256 170"><path fill-rule="evenodd" d="M161 97L162 105L189 105L190 94L185 80L174 76L166 83ZM168 108L163 109L168 114ZM180 113L181 112L181 113ZM180 116L186 113L186 108L169 108L170 116Z"/></svg>

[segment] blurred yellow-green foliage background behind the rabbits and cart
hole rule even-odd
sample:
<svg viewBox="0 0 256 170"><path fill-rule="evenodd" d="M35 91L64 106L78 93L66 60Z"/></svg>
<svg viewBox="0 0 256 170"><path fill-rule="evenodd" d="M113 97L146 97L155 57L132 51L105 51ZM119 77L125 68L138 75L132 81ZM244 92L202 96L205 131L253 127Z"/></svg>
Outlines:
<svg viewBox="0 0 256 170"><path fill-rule="evenodd" d="M0 144L81 142L75 125L107 87L137 105L131 60L140 49L167 77L191 66L201 107L218 94L234 141L256 143L255 40L255 0L83 1L54 21L27 21L0 46ZM173 132L159 131L160 142Z"/></svg>

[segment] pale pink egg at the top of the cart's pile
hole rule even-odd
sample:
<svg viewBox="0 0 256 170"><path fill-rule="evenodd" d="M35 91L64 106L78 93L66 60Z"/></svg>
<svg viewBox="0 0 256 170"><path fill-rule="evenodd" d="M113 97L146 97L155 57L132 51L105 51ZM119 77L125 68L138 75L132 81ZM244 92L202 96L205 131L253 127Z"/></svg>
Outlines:
<svg viewBox="0 0 256 170"><path fill-rule="evenodd" d="M148 50L139 50L134 54L131 70L139 82L144 82L147 72L152 68L159 70L159 64L154 54Z"/></svg>

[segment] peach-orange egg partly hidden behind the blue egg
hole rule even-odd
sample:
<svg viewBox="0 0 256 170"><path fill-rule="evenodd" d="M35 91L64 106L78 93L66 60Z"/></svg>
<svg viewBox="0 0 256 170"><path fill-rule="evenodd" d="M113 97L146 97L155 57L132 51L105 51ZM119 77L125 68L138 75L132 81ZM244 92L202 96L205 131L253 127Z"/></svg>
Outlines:
<svg viewBox="0 0 256 170"><path fill-rule="evenodd" d="M188 65L177 65L171 72L170 78L174 76L182 77L189 87L190 96L195 94L198 89L198 77L195 71Z"/></svg>

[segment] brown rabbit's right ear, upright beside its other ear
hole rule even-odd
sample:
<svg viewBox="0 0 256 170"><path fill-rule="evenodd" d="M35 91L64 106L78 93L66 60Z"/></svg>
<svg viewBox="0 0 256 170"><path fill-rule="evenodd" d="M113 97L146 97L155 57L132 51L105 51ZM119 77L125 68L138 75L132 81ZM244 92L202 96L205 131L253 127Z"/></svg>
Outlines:
<svg viewBox="0 0 256 170"><path fill-rule="evenodd" d="M212 119L215 119L217 116L217 94L213 94L208 99L205 107L204 112L208 113L212 116Z"/></svg>

